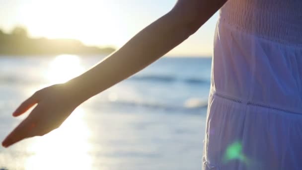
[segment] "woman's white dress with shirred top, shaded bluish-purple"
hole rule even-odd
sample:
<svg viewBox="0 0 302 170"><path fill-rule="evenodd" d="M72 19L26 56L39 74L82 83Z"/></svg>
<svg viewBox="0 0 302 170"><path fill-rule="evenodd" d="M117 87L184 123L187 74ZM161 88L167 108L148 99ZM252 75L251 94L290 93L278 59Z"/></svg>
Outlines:
<svg viewBox="0 0 302 170"><path fill-rule="evenodd" d="M302 170L302 0L220 9L203 169Z"/></svg>

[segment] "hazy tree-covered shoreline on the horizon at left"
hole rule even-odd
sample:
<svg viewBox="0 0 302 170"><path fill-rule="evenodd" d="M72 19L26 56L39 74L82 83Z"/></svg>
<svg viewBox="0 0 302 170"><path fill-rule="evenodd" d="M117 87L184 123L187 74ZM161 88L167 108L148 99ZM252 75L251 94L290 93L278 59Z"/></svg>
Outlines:
<svg viewBox="0 0 302 170"><path fill-rule="evenodd" d="M10 33L0 30L0 55L98 55L109 54L114 50L114 48L85 46L82 42L73 39L30 38L23 27L15 27Z"/></svg>

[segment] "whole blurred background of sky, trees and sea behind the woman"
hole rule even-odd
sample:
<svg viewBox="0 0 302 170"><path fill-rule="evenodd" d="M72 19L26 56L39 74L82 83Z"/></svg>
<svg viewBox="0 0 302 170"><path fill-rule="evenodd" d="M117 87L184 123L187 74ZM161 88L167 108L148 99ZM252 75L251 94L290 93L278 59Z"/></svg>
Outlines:
<svg viewBox="0 0 302 170"><path fill-rule="evenodd" d="M0 139L36 90L120 48L176 0L0 0ZM200 170L218 14L43 136L0 148L5 170ZM114 66L112 66L114 67Z"/></svg>

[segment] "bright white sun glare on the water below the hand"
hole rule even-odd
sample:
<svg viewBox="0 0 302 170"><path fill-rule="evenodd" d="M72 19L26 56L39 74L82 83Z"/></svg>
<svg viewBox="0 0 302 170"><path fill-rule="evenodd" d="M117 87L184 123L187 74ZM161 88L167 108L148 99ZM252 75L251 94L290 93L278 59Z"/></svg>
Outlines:
<svg viewBox="0 0 302 170"><path fill-rule="evenodd" d="M83 115L83 109L76 108L59 129L37 138L27 148L32 156L25 164L26 170L90 170L91 133Z"/></svg>

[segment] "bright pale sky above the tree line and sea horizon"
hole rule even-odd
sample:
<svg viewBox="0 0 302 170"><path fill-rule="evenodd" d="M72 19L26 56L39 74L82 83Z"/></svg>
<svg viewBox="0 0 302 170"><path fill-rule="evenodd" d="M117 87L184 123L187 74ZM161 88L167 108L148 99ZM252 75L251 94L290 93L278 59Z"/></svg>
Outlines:
<svg viewBox="0 0 302 170"><path fill-rule="evenodd" d="M168 12L176 0L0 0L0 29L24 26L31 37L72 38L121 47ZM211 56L218 13L168 53Z"/></svg>

